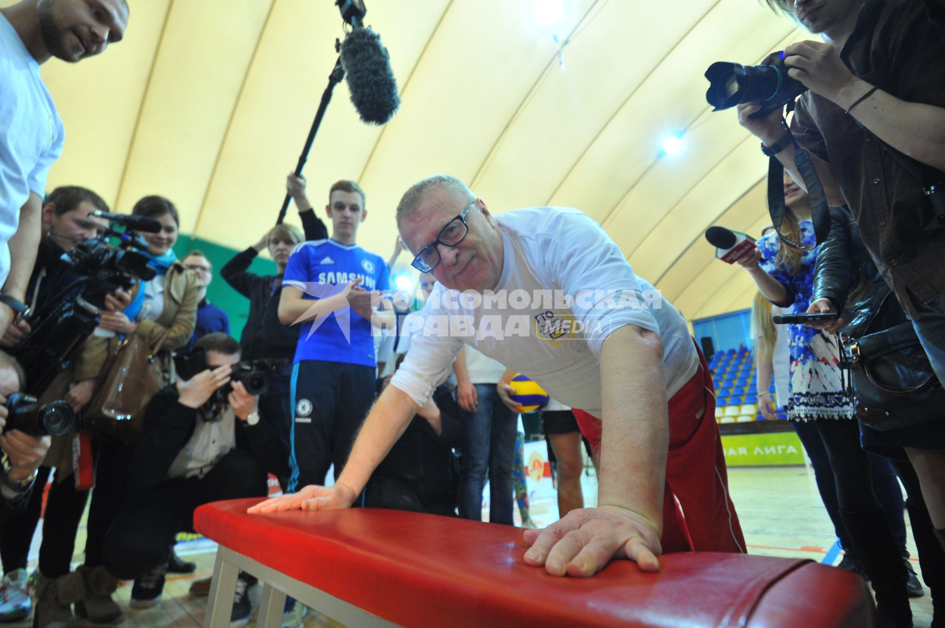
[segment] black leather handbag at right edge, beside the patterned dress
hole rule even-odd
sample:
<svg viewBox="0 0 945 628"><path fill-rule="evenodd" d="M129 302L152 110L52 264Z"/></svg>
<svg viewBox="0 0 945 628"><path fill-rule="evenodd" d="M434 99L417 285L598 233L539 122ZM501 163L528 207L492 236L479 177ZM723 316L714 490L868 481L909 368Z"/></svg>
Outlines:
<svg viewBox="0 0 945 628"><path fill-rule="evenodd" d="M840 360L850 370L857 418L868 427L886 432L945 416L945 389L912 323L841 338Z"/></svg>

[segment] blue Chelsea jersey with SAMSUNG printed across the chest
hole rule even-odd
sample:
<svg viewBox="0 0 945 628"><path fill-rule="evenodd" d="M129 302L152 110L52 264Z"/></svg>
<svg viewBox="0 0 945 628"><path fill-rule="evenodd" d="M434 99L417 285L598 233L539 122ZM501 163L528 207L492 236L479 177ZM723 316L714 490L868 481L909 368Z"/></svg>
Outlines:
<svg viewBox="0 0 945 628"><path fill-rule="evenodd" d="M285 267L283 283L301 289L305 298L314 300L336 295L358 278L358 285L365 290L380 290L389 296L390 268L383 258L360 246L327 239L296 246ZM370 321L344 308L303 323L295 362L302 360L376 366Z"/></svg>

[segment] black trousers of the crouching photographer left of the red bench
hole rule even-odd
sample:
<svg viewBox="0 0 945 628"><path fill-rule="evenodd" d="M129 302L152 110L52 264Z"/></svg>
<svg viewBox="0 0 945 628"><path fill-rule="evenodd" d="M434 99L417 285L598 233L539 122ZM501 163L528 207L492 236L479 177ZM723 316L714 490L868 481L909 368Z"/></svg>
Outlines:
<svg viewBox="0 0 945 628"><path fill-rule="evenodd" d="M138 578L167 562L175 535L194 529L199 505L267 493L266 471L249 450L232 450L202 479L165 480L132 493L109 530L104 565L123 580Z"/></svg>

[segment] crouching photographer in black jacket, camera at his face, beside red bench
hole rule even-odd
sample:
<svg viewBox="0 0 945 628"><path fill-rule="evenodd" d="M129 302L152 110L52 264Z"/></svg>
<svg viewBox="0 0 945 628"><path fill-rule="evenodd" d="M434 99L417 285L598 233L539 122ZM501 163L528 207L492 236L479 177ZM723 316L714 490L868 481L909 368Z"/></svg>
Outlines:
<svg viewBox="0 0 945 628"><path fill-rule="evenodd" d="M169 548L179 530L193 529L194 509L209 501L267 494L266 472L285 475L288 449L259 399L232 382L225 400L215 393L231 382L239 344L223 333L198 340L207 368L178 379L147 404L145 431L129 467L129 499L112 525L105 565L136 579L131 606L158 603ZM242 578L242 576L241 576ZM245 594L248 584L238 590ZM233 605L233 620L249 616L249 599Z"/></svg>

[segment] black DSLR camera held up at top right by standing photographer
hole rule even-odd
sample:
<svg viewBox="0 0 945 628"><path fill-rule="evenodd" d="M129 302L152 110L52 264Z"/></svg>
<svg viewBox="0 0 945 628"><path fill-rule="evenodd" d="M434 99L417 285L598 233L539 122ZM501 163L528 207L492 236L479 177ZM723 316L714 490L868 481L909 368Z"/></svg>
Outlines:
<svg viewBox="0 0 945 628"><path fill-rule="evenodd" d="M748 116L750 118L763 118L780 110L807 91L799 80L787 76L783 51L771 53L758 65L718 61L709 66L705 76L710 83L706 100L713 111L743 103L761 103L762 109Z"/></svg>

